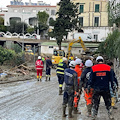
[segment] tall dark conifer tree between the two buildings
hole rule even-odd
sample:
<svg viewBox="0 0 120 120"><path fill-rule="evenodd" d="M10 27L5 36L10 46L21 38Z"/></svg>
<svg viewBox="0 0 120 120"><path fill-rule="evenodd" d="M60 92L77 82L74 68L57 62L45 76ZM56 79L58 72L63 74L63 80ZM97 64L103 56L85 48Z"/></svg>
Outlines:
<svg viewBox="0 0 120 120"><path fill-rule="evenodd" d="M78 3L74 4L70 0L61 0L59 3L59 11L56 13L56 21L50 21L53 26L52 32L49 33L50 37L56 38L59 49L61 50L61 42L64 36L67 37L68 32L78 29Z"/></svg>

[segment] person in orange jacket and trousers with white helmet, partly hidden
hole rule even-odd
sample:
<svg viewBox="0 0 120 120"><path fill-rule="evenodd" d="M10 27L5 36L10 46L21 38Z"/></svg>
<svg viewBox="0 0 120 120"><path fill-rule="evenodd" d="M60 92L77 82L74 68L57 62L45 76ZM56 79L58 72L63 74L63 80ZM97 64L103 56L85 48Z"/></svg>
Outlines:
<svg viewBox="0 0 120 120"><path fill-rule="evenodd" d="M81 76L81 73L82 73L82 70L80 69L80 64L82 63L82 60L79 59L79 58L77 58L75 60L75 63L76 63L76 66L75 66L74 70L75 70L75 72L77 72L78 86L79 86L80 76ZM75 91L75 97L74 97L74 114L80 114L80 112L78 111L79 100L80 100L80 95L77 95L76 91Z"/></svg>

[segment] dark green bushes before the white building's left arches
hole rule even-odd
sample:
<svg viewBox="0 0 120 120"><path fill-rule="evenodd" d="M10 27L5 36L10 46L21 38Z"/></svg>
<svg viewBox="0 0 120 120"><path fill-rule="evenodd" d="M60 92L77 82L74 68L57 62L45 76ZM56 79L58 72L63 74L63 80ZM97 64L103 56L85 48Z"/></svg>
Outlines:
<svg viewBox="0 0 120 120"><path fill-rule="evenodd" d="M23 29L24 29L24 33L26 33L26 29L27 29L27 24L24 22L16 22L16 21L10 21L10 26L8 27L8 31L11 33L23 33Z"/></svg>

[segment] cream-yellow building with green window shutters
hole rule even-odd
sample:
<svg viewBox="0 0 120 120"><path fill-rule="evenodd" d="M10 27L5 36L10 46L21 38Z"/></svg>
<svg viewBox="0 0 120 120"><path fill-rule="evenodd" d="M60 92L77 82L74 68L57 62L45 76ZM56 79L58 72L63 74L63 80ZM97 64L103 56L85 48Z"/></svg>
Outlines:
<svg viewBox="0 0 120 120"><path fill-rule="evenodd" d="M112 32L108 27L108 0L71 0L79 3L79 21L84 33L90 33L96 41L107 37ZM69 34L72 39L72 33Z"/></svg>

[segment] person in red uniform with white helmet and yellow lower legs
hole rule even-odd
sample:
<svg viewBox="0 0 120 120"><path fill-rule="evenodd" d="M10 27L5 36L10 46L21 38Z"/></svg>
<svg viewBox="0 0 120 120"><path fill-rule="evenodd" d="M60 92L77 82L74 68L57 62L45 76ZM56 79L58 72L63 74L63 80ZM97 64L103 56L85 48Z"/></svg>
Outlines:
<svg viewBox="0 0 120 120"><path fill-rule="evenodd" d="M42 59L41 56L38 56L38 60L35 63L35 67L36 67L36 70L37 70L38 81L39 81L39 78L40 78L40 81L42 79L43 62L42 62L41 59Z"/></svg>

